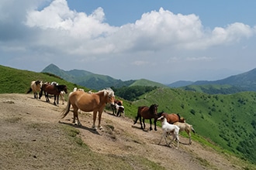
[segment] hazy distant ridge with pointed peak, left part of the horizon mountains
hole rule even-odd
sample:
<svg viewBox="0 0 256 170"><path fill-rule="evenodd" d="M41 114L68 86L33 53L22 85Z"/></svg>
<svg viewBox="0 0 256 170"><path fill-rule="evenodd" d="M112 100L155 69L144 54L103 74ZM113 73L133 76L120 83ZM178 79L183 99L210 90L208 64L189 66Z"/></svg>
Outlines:
<svg viewBox="0 0 256 170"><path fill-rule="evenodd" d="M61 70L54 64L50 64L42 70L42 73L52 73L56 76L60 76L62 79L76 83L83 87L87 87L94 90L101 90L106 87L130 87L130 86L151 86L151 87L167 87L164 84L157 83L150 80L116 80L111 76L105 76L100 74L91 73L85 70Z"/></svg>

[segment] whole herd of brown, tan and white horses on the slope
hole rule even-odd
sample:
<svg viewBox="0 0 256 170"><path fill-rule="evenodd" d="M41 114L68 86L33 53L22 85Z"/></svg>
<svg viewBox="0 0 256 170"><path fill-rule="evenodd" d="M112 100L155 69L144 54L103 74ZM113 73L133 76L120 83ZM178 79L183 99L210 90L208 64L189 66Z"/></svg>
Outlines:
<svg viewBox="0 0 256 170"><path fill-rule="evenodd" d="M59 104L59 96L61 93L67 93L67 86L66 85L58 85L57 83L43 83L41 80L32 81L29 90L27 93L33 91L34 98L41 98L43 93L45 95L46 101L50 102L49 94L54 95L54 105ZM71 93L68 94L67 97L67 106L61 112L61 117L64 118L67 114L72 111L73 112L73 123L78 124L81 126L81 122L78 118L78 110L82 110L85 112L93 112L93 124L92 128L97 129L95 126L96 117L98 114L99 117L99 124L98 128L102 129L101 125L101 118L102 112L106 107L106 104L110 104L112 107L112 114L116 114L119 116L121 113L124 113L123 101L122 100L115 100L114 91L110 88L99 90L96 93L92 92L85 92L84 90L73 90ZM71 110L71 107L73 109ZM157 121L162 121L163 118L166 120L167 123L164 125L162 124L162 128L164 126L172 127L174 126L176 129L178 128L179 131L185 131L189 135L189 145L191 142L191 132L195 133L195 130L192 128L192 125L185 122L185 118L181 117L179 114L168 114L162 112L157 112L157 104L152 104L150 107L148 106L140 106L137 109L137 117L133 124L137 124L137 121L140 120L140 128L145 129L145 119L150 120L150 131L153 130L152 128L152 121L154 119L154 130L157 131ZM163 122L163 121L162 121ZM171 125L169 125L171 124ZM164 133L167 133L166 131ZM177 133L174 130L169 130L169 134L173 135L173 139L178 140L178 136L174 134ZM166 141L166 135L163 134ZM160 141L161 142L161 141ZM159 144L160 144L159 142ZM170 142L171 143L171 142ZM169 144L170 145L170 144Z"/></svg>

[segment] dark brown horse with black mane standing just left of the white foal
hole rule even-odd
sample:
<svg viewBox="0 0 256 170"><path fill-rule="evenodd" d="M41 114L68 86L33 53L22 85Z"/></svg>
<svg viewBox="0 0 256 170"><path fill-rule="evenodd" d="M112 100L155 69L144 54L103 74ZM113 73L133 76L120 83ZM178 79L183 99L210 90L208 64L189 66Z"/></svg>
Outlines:
<svg viewBox="0 0 256 170"><path fill-rule="evenodd" d="M149 119L150 120L150 131L152 131L152 121L151 119L154 118L154 131L157 131L157 104L152 104L150 107L147 106L140 106L138 107L138 112L137 112L137 117L136 120L134 121L134 124L137 123L138 119L140 118L140 126L141 129L145 129L146 125L145 125L145 119ZM142 127L142 123L141 123L141 117L143 118L143 124L144 124L144 128Z"/></svg>

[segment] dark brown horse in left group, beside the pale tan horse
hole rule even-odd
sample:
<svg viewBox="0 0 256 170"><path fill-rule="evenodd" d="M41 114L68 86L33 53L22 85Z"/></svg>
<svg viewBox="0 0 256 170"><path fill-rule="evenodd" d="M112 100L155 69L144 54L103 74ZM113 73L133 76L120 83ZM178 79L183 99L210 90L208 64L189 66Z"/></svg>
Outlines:
<svg viewBox="0 0 256 170"><path fill-rule="evenodd" d="M51 85L49 83L43 83L40 91L40 97L42 97L44 91L45 100L47 102L50 102L49 100L49 94L54 94L54 105L59 104L59 95L61 91L64 91L67 93L67 86L66 85ZM56 104L56 98L57 98L57 104Z"/></svg>

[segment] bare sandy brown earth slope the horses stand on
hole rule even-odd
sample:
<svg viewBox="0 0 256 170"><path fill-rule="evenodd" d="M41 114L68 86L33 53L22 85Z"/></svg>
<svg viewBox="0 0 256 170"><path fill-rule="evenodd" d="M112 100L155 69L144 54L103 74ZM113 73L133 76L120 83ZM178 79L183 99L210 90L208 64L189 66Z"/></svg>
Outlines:
<svg viewBox="0 0 256 170"><path fill-rule="evenodd" d="M244 168L237 165L237 158L217 153L195 141L192 141L192 145L181 144L178 149L175 149L176 143L171 148L165 146L164 140L158 145L161 128L142 131L140 124L133 125L133 120L112 116L108 111L102 114L103 130L93 131L92 113L82 112L79 115L82 127L77 127L71 123L72 112L61 119L65 104L57 107L45 102L44 98L33 99L33 94L0 94L0 106L0 167L3 169L95 168L89 162L90 156L77 167L71 162L75 159L73 153L77 148L71 148L71 141L64 136L60 128L64 125L80 131L79 138L92 151L93 157L115 155L120 159L134 155L147 158L165 169ZM182 143L189 141L182 137L180 140ZM135 163L133 169L141 169L140 166Z"/></svg>

